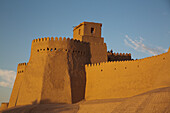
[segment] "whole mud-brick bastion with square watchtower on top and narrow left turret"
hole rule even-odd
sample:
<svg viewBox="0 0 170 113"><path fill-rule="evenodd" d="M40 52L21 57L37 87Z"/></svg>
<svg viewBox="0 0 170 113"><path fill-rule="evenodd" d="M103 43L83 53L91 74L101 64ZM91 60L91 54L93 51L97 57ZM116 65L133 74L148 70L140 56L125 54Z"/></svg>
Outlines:
<svg viewBox="0 0 170 113"><path fill-rule="evenodd" d="M83 22L74 28L73 39L33 40L29 62L18 65L9 107L84 99L85 64L107 61L101 26Z"/></svg>

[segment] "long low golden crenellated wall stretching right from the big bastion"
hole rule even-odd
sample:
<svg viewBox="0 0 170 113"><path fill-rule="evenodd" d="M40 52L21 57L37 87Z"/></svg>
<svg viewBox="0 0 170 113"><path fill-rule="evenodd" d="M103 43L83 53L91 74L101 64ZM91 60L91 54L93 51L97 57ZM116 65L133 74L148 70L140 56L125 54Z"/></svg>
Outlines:
<svg viewBox="0 0 170 113"><path fill-rule="evenodd" d="M86 65L86 100L125 98L170 86L170 52L135 61Z"/></svg>

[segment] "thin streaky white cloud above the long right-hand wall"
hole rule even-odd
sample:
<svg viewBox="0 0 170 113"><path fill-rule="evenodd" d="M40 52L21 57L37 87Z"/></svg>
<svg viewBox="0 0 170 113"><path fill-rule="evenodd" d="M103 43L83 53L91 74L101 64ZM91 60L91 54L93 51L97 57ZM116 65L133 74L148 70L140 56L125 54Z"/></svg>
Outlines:
<svg viewBox="0 0 170 113"><path fill-rule="evenodd" d="M154 47L154 48L150 48L148 46L146 46L144 43L143 43L144 39L142 37L139 37L139 41L138 40L133 40L132 38L130 38L128 35L125 35L125 39L124 39L124 43L137 50L137 51L141 51L141 52L144 52L144 53L149 53L149 54L152 54L152 55L158 55L160 53L163 53L163 52L166 52L168 51L168 49L164 49L162 47Z"/></svg>

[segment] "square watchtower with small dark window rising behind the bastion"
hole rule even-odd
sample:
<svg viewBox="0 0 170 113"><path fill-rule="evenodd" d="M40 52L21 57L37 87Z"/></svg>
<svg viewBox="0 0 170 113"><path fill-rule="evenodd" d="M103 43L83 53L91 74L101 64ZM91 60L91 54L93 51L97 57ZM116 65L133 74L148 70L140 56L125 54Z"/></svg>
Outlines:
<svg viewBox="0 0 170 113"><path fill-rule="evenodd" d="M107 46L101 37L101 23L82 22L73 30L73 39L89 42L91 63L107 61Z"/></svg>

